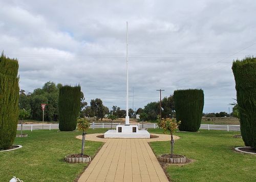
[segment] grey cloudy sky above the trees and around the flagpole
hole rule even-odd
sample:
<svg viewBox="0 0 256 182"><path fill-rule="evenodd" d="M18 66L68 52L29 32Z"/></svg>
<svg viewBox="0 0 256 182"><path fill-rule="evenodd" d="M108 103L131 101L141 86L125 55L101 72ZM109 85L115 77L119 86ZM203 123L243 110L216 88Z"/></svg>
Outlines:
<svg viewBox="0 0 256 182"><path fill-rule="evenodd" d="M19 60L20 88L81 84L86 100L125 108L202 88L204 112L236 98L233 59L256 55L256 1L4 1L0 50ZM1 68L0 68L1 69ZM231 107L230 107L231 108Z"/></svg>

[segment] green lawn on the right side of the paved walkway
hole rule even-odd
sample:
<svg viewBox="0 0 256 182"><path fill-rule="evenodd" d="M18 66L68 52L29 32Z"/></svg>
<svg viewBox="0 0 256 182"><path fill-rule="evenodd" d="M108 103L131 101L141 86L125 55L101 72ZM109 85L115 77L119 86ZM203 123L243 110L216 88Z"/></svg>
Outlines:
<svg viewBox="0 0 256 182"><path fill-rule="evenodd" d="M162 133L161 129L148 129ZM244 146L242 139L232 138L240 132L200 130L176 132L175 153L195 160L183 166L170 165L167 174L172 181L256 181L256 156L237 153L234 147ZM156 155L169 153L169 142L151 142Z"/></svg>

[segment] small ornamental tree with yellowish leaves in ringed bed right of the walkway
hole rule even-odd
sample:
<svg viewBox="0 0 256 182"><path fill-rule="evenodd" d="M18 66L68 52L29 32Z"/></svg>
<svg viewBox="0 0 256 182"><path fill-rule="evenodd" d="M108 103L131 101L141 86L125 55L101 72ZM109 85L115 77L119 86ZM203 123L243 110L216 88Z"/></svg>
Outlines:
<svg viewBox="0 0 256 182"><path fill-rule="evenodd" d="M176 131L176 129L178 128L178 126L180 125L180 121L176 122L175 119L161 119L160 116L158 116L157 119L157 123L158 126L160 128L163 128L163 132L166 133L167 131L170 132L170 158L173 157L173 152L174 152L174 137L173 137L173 133Z"/></svg>

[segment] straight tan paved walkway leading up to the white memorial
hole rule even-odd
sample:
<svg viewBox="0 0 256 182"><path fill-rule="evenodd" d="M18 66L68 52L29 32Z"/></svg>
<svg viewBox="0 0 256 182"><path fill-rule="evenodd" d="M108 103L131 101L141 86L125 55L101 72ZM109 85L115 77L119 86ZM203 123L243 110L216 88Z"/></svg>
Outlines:
<svg viewBox="0 0 256 182"><path fill-rule="evenodd" d="M88 135L87 137L90 138ZM96 140L99 141L100 139ZM150 139L101 140L105 144L80 176L79 182L168 181L155 154L147 143Z"/></svg>

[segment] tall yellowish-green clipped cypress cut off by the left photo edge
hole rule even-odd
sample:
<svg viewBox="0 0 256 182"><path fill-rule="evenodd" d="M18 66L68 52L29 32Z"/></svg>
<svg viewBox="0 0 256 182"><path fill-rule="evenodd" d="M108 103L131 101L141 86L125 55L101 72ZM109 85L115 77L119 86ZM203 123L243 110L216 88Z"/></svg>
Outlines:
<svg viewBox="0 0 256 182"><path fill-rule="evenodd" d="M18 61L0 57L0 149L13 144L18 124Z"/></svg>

